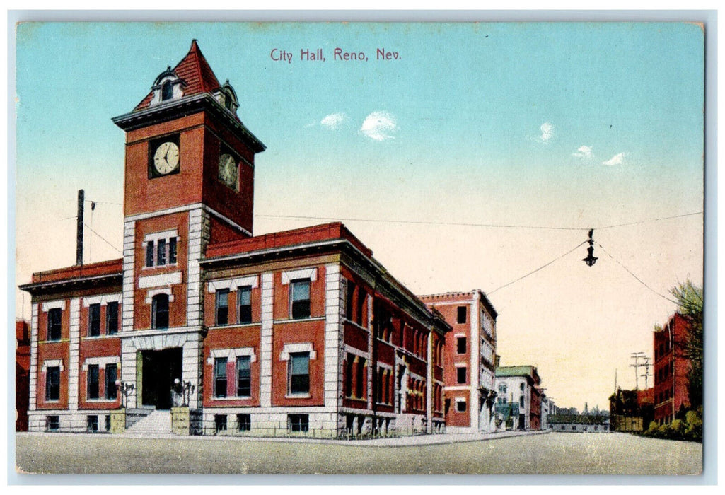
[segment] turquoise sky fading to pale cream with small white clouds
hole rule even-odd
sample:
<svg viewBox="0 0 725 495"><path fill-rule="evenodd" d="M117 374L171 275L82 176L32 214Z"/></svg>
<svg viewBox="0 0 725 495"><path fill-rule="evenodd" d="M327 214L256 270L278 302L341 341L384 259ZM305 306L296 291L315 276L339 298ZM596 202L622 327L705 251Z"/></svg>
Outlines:
<svg viewBox="0 0 725 495"><path fill-rule="evenodd" d="M80 188L96 201L86 262L120 257L111 118L193 38L268 147L255 235L343 220L416 294L481 288L501 364L537 366L561 407L605 409L615 383L634 388L630 355L652 356L669 289L703 283L698 25L31 22L16 35L16 283L75 263ZM325 61L301 59L316 49ZM21 291L16 315L30 315Z"/></svg>

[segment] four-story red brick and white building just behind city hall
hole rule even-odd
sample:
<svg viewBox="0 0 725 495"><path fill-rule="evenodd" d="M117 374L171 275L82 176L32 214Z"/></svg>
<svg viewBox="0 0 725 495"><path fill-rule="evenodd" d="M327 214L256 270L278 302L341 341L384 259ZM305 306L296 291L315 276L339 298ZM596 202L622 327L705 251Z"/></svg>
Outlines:
<svg viewBox="0 0 725 495"><path fill-rule="evenodd" d="M494 431L496 309L478 289L421 299L439 311L453 329L443 358L446 430Z"/></svg>

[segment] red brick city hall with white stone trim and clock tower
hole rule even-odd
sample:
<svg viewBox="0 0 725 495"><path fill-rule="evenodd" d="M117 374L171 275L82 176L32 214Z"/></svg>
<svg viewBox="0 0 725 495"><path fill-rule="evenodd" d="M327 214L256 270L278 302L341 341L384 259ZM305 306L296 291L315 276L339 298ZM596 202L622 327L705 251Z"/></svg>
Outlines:
<svg viewBox="0 0 725 495"><path fill-rule="evenodd" d="M113 119L123 258L21 286L31 431L443 430L451 326L340 223L253 236L265 146L238 106L193 41Z"/></svg>

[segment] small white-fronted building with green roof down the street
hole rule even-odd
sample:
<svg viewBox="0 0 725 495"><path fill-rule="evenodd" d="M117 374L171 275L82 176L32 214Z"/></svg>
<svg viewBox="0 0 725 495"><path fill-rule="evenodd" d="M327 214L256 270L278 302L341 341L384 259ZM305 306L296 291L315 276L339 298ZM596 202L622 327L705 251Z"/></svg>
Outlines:
<svg viewBox="0 0 725 495"><path fill-rule="evenodd" d="M496 416L499 429L541 428L541 378L535 366L496 368Z"/></svg>

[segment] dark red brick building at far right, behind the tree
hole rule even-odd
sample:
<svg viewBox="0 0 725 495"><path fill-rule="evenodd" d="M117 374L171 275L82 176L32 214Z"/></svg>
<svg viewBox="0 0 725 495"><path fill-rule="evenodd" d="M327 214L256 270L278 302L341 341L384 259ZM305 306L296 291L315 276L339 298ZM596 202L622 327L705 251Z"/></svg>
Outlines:
<svg viewBox="0 0 725 495"><path fill-rule="evenodd" d="M688 331L687 318L675 313L654 332L654 419L658 425L671 423L680 407L689 407L689 360L683 355Z"/></svg>

